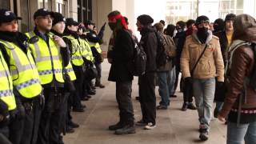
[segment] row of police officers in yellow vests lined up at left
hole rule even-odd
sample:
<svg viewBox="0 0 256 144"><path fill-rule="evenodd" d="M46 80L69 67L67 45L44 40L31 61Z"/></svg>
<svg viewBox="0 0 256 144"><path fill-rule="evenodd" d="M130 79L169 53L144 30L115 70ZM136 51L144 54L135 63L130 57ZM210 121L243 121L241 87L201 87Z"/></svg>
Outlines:
<svg viewBox="0 0 256 144"><path fill-rule="evenodd" d="M91 21L78 23L39 9L34 30L18 31L17 17L0 10L0 143L61 144L78 124L70 114L101 82L102 37ZM95 83L93 83L95 79Z"/></svg>

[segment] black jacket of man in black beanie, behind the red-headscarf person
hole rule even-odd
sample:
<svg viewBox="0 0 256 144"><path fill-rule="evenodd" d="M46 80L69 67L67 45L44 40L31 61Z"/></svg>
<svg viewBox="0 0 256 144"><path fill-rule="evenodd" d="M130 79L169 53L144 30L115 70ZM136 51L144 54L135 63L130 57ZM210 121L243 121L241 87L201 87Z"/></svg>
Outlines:
<svg viewBox="0 0 256 144"><path fill-rule="evenodd" d="M140 33L142 38L139 43L146 53L146 72L154 72L157 70L156 55L158 48L155 30L152 26L148 26L143 28Z"/></svg>

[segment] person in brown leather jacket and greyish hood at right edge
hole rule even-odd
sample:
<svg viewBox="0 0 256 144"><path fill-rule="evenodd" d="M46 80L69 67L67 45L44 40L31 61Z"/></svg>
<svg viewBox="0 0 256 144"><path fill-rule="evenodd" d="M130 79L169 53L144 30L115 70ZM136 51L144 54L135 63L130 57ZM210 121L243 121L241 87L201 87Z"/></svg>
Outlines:
<svg viewBox="0 0 256 144"><path fill-rule="evenodd" d="M228 92L218 119L228 116L227 144L256 143L256 91L255 83L256 22L248 14L234 19L234 34L226 66ZM254 50L253 50L254 49Z"/></svg>

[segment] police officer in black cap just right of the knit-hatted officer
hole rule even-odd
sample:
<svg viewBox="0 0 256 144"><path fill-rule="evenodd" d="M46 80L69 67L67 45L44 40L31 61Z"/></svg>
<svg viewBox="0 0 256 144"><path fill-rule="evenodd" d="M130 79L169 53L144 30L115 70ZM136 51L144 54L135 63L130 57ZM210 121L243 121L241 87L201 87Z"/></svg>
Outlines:
<svg viewBox="0 0 256 144"><path fill-rule="evenodd" d="M84 60L82 58L82 44L79 41L78 31L79 23L73 18L66 18L66 29L64 31L63 39L70 44L70 58L74 73L77 79L74 81L75 93L73 95L73 111L83 112L84 107L81 100L85 100L82 94L82 82L84 79Z"/></svg>

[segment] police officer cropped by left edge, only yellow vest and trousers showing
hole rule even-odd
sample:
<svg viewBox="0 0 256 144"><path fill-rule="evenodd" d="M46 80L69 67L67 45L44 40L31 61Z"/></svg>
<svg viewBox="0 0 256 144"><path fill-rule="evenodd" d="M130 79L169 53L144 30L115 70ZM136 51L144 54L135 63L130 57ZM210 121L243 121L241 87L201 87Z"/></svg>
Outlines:
<svg viewBox="0 0 256 144"><path fill-rule="evenodd" d="M10 76L6 60L0 50L0 142L11 144L8 140L8 123L10 113L16 110L16 102L13 94L13 82Z"/></svg>

